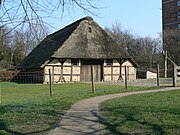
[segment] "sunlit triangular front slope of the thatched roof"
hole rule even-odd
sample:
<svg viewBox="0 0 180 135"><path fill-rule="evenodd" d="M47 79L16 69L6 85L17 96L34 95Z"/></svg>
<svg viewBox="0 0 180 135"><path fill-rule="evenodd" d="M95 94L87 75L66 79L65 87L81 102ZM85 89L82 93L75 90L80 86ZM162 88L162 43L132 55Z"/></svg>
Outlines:
<svg viewBox="0 0 180 135"><path fill-rule="evenodd" d="M93 20L84 20L52 57L113 59L129 55Z"/></svg>

